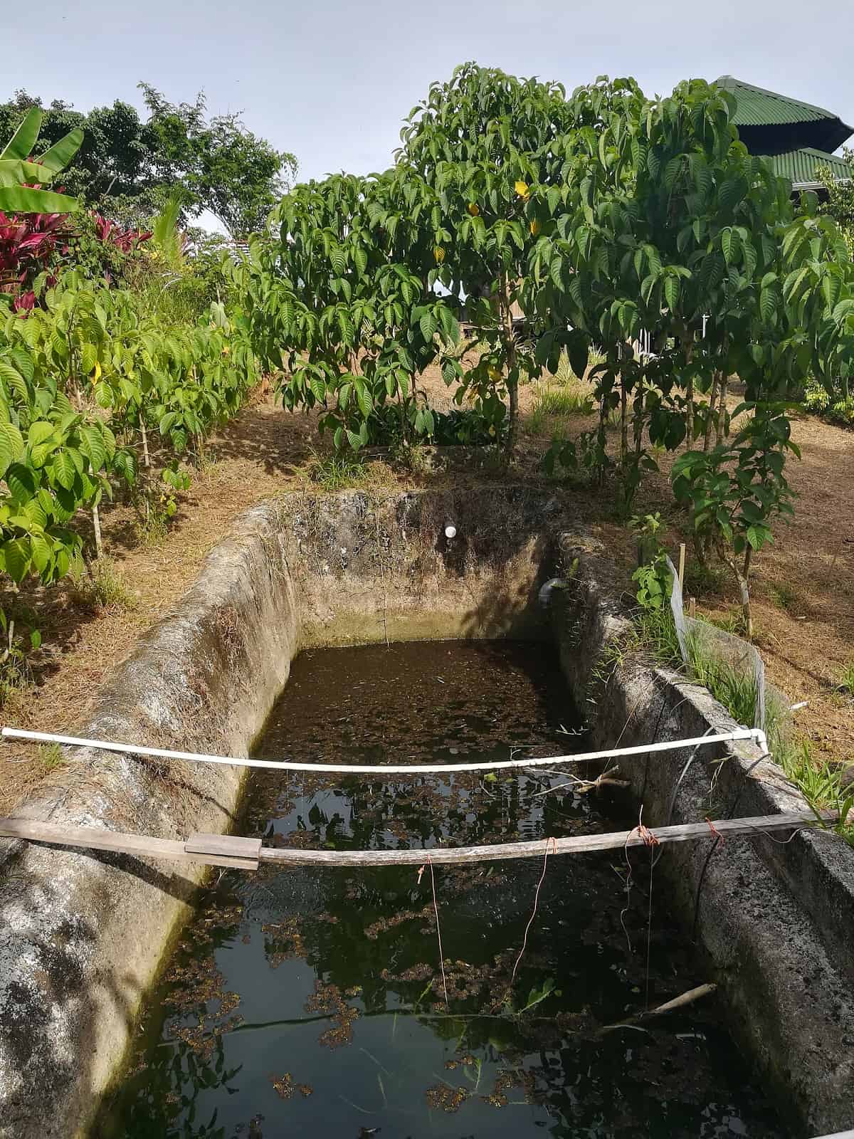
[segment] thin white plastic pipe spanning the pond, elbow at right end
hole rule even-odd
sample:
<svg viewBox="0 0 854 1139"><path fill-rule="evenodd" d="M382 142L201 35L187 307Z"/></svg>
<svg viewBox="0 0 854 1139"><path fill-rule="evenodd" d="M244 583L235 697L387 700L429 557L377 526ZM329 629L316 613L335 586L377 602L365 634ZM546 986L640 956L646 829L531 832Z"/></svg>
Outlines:
<svg viewBox="0 0 854 1139"><path fill-rule="evenodd" d="M575 755L548 755L533 760L496 760L486 763L293 763L278 760L244 760L233 755L199 755L196 752L172 752L165 747L143 747L140 744L114 744L105 739L81 739L77 736L57 736L50 731L26 731L23 728L3 728L7 739L34 739L43 744L66 744L69 747L95 747L101 752L123 752L128 755L151 755L163 760L190 760L195 763L228 763L238 768L272 768L277 771L336 772L348 776L388 776L447 773L450 771L495 771L503 768L545 767L550 763L584 763L588 760L603 760L621 755L647 755L649 752L667 752L680 747L700 747L704 744L721 744L728 740L753 739L763 752L767 751L764 732L757 728L738 728L720 736L695 736L691 739L663 740L657 744L639 744L635 747L617 747L607 752L582 752Z"/></svg>

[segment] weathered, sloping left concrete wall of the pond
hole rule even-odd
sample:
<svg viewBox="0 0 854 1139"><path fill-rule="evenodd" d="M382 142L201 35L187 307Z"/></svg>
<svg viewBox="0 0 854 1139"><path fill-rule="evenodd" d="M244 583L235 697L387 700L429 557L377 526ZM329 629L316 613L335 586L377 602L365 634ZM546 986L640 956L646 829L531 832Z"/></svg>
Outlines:
<svg viewBox="0 0 854 1139"><path fill-rule="evenodd" d="M90 738L245 755L285 683L297 605L277 511L243 516L115 671ZM228 829L244 769L69 756L22 814L165 838ZM0 1136L87 1131L202 870L0 843Z"/></svg>

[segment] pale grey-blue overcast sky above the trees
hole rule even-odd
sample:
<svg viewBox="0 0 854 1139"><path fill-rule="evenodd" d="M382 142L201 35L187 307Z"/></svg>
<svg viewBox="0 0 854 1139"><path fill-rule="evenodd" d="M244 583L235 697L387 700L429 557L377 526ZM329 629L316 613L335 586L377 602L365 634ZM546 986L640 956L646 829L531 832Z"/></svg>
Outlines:
<svg viewBox="0 0 854 1139"><path fill-rule="evenodd" d="M401 118L476 59L569 90L634 75L649 95L732 74L854 124L852 0L41 0L0 3L0 98L24 87L81 110L204 89L212 113L299 161L301 178L385 169Z"/></svg>

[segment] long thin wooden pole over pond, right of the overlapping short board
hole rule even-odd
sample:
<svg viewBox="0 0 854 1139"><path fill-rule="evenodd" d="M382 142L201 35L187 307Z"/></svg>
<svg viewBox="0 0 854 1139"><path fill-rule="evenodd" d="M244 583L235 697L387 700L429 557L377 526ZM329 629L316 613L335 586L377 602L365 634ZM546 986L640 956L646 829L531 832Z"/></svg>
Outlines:
<svg viewBox="0 0 854 1139"><path fill-rule="evenodd" d="M823 811L826 821L834 821L837 813ZM718 819L712 823L689 822L675 827L654 828L659 844L690 842L698 838L714 838L715 835L750 835L769 830L791 830L810 826L818 820L812 811L791 814L758 814L748 819ZM714 829L713 829L714 828ZM588 851L616 850L623 846L643 846L643 838L633 830L618 830L603 835L577 835L572 838L539 838L526 843L500 843L495 846L432 847L427 850L400 851L319 851L290 850L282 846L262 846L262 862L280 862L317 866L421 866L430 861L435 866L455 862L496 862L502 859L542 858L547 846L550 854L580 854Z"/></svg>

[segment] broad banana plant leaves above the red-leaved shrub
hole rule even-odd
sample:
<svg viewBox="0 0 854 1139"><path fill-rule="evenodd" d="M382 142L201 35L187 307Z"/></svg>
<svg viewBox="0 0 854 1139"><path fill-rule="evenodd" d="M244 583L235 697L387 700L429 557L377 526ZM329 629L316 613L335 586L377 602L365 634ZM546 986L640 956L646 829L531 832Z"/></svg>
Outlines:
<svg viewBox="0 0 854 1139"><path fill-rule="evenodd" d="M38 159L31 161L41 130L42 113L31 107L23 123L0 150L0 211L3 213L73 213L76 198L40 187L48 186L68 165L83 142L83 131L75 128L55 142Z"/></svg>

